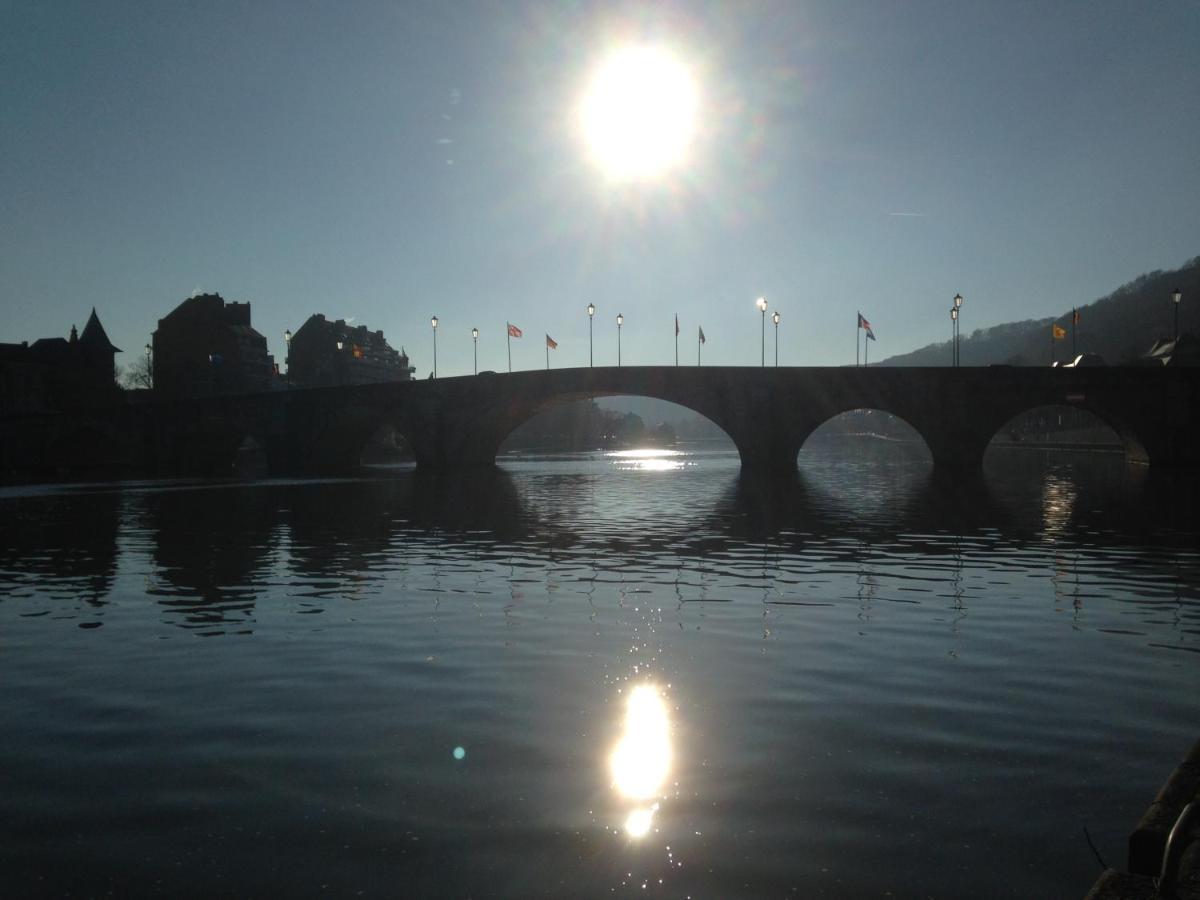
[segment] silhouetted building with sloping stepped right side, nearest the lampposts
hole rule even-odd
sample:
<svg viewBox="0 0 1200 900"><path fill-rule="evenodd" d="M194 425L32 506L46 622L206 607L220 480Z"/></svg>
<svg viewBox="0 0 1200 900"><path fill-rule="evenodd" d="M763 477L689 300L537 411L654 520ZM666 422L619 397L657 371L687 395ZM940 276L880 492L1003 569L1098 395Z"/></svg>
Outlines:
<svg viewBox="0 0 1200 900"><path fill-rule="evenodd" d="M413 377L408 354L394 350L383 331L310 316L292 336L288 382L295 388L407 382Z"/></svg>

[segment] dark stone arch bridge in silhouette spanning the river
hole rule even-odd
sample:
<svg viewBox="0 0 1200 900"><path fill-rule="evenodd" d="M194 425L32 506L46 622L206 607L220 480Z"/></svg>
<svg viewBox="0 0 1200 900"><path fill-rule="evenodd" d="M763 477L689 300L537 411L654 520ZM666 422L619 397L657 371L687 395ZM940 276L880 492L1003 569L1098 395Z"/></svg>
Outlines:
<svg viewBox="0 0 1200 900"><path fill-rule="evenodd" d="M1200 370L1183 367L565 368L151 403L131 425L160 473L228 472L247 437L272 473L353 470L384 424L407 438L421 467L449 469L493 464L514 428L556 403L614 395L707 416L745 469L793 469L817 426L862 408L908 422L937 468L978 469L1009 420L1049 404L1097 415L1130 461L1200 467Z"/></svg>

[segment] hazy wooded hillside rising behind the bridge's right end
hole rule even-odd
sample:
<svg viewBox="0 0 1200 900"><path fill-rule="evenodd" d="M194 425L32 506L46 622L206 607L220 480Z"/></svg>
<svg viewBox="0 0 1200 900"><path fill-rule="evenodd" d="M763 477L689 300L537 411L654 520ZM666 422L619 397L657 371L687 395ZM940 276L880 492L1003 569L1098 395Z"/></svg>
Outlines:
<svg viewBox="0 0 1200 900"><path fill-rule="evenodd" d="M1178 288L1180 332L1200 332L1200 257L1172 271L1153 271L1114 290L1087 306L1079 307L1075 346L1079 353L1098 353L1109 364L1133 360L1162 337L1174 331L1171 294ZM992 328L977 329L960 336L964 366L1008 364L1045 366L1050 364L1050 326L1057 322L1067 329L1067 338L1055 342L1060 362L1072 355L1070 308L1057 316L1027 319ZM912 353L889 356L881 366L947 366L950 342L931 343Z"/></svg>

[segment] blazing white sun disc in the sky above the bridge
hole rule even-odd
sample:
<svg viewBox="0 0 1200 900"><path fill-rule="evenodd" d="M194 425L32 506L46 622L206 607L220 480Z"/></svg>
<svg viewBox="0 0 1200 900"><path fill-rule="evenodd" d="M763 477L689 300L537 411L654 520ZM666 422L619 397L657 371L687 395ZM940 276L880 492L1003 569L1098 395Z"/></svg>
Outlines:
<svg viewBox="0 0 1200 900"><path fill-rule="evenodd" d="M614 180L653 179L688 161L700 103L688 67L661 47L625 47L605 59L580 104L592 160Z"/></svg>

